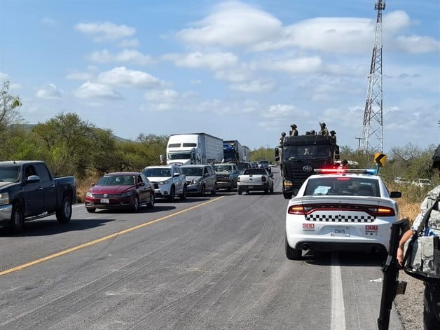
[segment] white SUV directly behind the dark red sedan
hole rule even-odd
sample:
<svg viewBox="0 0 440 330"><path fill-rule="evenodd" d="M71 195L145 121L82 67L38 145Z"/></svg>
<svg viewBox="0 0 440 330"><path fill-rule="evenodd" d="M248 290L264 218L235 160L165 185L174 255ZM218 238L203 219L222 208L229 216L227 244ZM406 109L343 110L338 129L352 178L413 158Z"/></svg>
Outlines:
<svg viewBox="0 0 440 330"><path fill-rule="evenodd" d="M156 198L166 198L168 202L174 202L178 195L180 200L186 199L186 177L179 166L147 166L142 173L153 184Z"/></svg>

